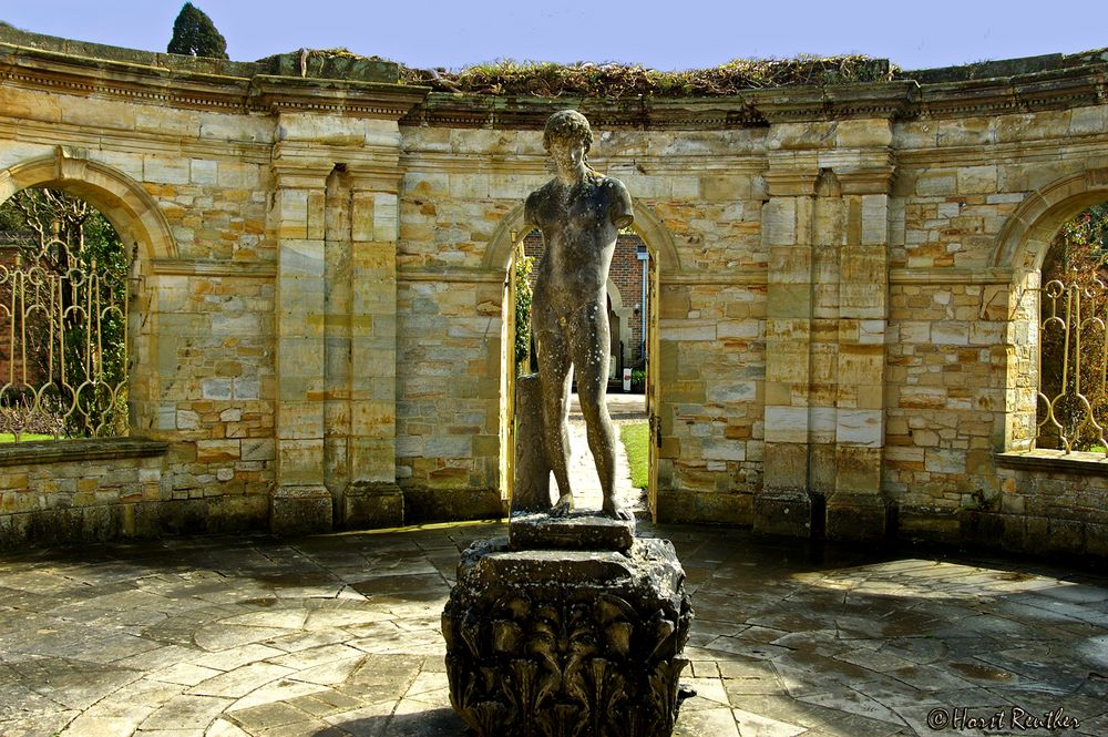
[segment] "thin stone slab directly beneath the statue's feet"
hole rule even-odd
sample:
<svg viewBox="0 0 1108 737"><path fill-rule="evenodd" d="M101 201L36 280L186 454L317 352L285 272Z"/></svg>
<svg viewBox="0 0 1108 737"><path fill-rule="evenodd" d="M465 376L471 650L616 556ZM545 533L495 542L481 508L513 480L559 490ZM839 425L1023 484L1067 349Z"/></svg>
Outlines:
<svg viewBox="0 0 1108 737"><path fill-rule="evenodd" d="M507 528L512 550L611 550L626 552L635 542L634 520L591 512L565 516L513 514Z"/></svg>

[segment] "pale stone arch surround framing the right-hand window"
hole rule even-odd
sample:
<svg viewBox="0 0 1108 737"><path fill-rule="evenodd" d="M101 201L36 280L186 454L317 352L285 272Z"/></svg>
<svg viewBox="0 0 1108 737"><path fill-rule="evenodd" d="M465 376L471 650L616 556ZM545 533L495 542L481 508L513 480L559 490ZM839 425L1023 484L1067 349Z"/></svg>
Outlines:
<svg viewBox="0 0 1108 737"><path fill-rule="evenodd" d="M1039 386L1039 282L1061 226L1091 205L1108 201L1108 168L1065 176L1029 194L1004 224L989 266L1010 268L1005 348L1004 437L998 450L1023 451L1035 444L1036 398ZM986 300L982 309L997 305ZM1032 380L1027 381L1027 377Z"/></svg>

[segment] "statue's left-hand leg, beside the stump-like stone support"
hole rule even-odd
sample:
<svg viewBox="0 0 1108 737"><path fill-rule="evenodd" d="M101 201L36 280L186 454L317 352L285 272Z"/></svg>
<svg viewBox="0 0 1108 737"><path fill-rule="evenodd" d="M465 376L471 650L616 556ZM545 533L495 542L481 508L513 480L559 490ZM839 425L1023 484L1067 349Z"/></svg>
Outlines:
<svg viewBox="0 0 1108 737"><path fill-rule="evenodd" d="M556 330L535 334L538 352L538 381L542 392L543 450L546 463L557 482L558 500L552 513L573 511L570 488L570 350L565 336Z"/></svg>

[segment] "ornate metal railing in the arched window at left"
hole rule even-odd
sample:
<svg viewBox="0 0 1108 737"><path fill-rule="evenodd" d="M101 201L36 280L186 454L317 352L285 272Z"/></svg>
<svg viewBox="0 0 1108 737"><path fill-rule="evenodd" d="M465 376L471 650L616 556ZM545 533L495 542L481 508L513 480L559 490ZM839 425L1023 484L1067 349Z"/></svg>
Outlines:
<svg viewBox="0 0 1108 737"><path fill-rule="evenodd" d="M129 264L83 252L83 243L54 237L0 254L0 433L8 441L127 432Z"/></svg>

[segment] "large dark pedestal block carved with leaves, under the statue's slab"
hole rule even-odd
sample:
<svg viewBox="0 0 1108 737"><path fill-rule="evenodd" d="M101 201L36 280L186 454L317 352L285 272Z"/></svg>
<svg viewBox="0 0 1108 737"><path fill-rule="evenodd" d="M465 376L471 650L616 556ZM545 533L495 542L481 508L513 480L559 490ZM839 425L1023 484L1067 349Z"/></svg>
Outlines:
<svg viewBox="0 0 1108 737"><path fill-rule="evenodd" d="M450 702L481 737L670 735L693 607L666 540L462 554L442 615Z"/></svg>

